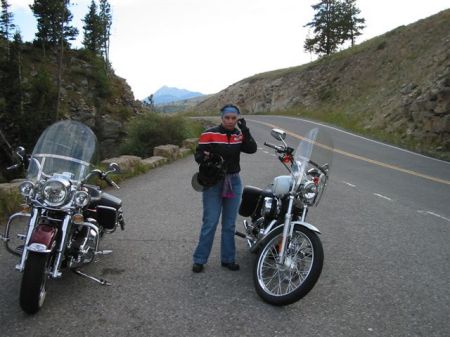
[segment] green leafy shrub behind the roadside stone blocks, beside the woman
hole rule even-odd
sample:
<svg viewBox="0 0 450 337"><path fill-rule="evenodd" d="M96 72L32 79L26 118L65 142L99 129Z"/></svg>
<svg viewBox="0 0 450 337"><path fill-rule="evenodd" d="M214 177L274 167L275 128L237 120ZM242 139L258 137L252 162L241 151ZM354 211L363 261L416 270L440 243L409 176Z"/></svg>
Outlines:
<svg viewBox="0 0 450 337"><path fill-rule="evenodd" d="M120 152L143 158L150 157L155 146L180 145L186 138L198 137L202 129L200 123L181 116L146 113L128 123L128 137Z"/></svg>

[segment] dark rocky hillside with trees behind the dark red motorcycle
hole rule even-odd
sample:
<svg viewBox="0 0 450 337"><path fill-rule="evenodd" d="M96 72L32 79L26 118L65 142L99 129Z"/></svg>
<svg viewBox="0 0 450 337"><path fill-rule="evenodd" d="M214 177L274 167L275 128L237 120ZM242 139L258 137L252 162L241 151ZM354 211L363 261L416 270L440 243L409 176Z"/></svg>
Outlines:
<svg viewBox="0 0 450 337"><path fill-rule="evenodd" d="M66 50L61 104L56 115L57 53L47 50L44 56L41 48L30 43L16 45L15 51L11 43L10 47L11 55L20 50L13 62L7 56L6 41L0 40L0 129L8 142L13 147L25 145L32 151L46 126L70 118L93 129L99 139L101 157L117 155L125 136L125 123L143 109L126 81L113 70L106 70L100 57L83 50ZM0 145L3 169L11 164L11 159L1 139Z"/></svg>

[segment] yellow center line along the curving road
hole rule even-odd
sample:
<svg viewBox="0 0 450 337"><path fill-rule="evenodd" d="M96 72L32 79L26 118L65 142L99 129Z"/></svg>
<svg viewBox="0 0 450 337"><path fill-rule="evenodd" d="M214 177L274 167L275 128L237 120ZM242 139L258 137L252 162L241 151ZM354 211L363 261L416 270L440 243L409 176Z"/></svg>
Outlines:
<svg viewBox="0 0 450 337"><path fill-rule="evenodd" d="M261 121L257 121L257 120L254 120L254 119L249 119L249 121L268 126L268 127L272 128L272 129L281 129L281 127L279 127L277 125L274 125L274 124L261 122ZM294 138L297 138L297 139L300 139L300 140L304 140L305 139L304 137L299 136L296 133L293 133L293 132L290 132L290 131L285 131L285 132L288 135L290 135L290 136L292 136ZM422 174L422 173L419 173L419 172L416 172L416 171L407 170L407 169L401 168L399 166L383 163L383 162L378 161L378 160L374 160L374 159L366 158L366 157L363 157L363 156L359 156L357 154L353 154L353 153L350 153L350 152L347 152L347 151L343 151L343 150L340 150L340 149L331 149L328 146L323 145L323 144L320 144L319 146L322 147L322 148L328 149L328 150L332 150L333 152L339 153L339 154L341 154L343 156L346 156L346 157L350 157L350 158L353 158L353 159L358 159L358 160L361 160L361 161L365 161L367 163L371 163L371 164L374 164L374 165L378 165L378 166L381 166L381 167L384 167L384 168L388 168L388 169L391 169L391 170L395 170L395 171L399 171L399 172L402 172L402 173L410 174L412 176L424 178L424 179L431 180L431 181L434 181L434 182L437 182L437 183L450 185L450 180L440 179L440 178L432 177L432 176L429 176L429 175L426 175L426 174Z"/></svg>

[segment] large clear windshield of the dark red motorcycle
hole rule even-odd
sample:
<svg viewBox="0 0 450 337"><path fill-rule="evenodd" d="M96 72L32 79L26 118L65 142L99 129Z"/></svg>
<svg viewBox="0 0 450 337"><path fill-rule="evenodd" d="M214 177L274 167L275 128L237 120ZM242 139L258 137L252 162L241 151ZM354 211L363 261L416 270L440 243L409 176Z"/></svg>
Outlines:
<svg viewBox="0 0 450 337"><path fill-rule="evenodd" d="M86 125L65 120L49 126L39 137L27 172L39 181L60 174L81 181L97 159L97 137Z"/></svg>

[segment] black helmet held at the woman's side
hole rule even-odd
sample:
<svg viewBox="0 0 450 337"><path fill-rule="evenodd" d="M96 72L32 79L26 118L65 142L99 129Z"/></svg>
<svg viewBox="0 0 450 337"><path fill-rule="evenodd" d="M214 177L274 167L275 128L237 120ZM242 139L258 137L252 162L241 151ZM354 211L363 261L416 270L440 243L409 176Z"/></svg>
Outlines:
<svg viewBox="0 0 450 337"><path fill-rule="evenodd" d="M220 155L211 153L210 157L200 164L198 172L192 177L194 190L202 192L223 179L225 177L223 163L224 160Z"/></svg>

